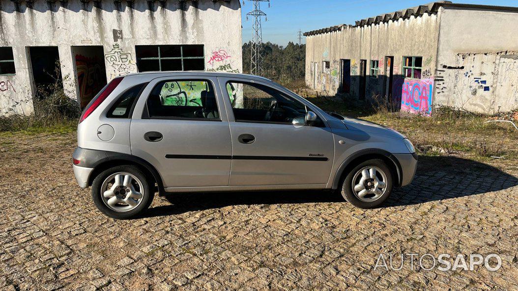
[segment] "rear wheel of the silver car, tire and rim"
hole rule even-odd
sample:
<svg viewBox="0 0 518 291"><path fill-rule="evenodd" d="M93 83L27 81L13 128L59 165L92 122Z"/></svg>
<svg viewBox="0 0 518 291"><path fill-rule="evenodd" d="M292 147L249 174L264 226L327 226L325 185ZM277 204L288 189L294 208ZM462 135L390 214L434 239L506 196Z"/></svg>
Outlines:
<svg viewBox="0 0 518 291"><path fill-rule="evenodd" d="M107 169L97 175L92 183L95 206L114 219L135 218L151 205L153 196L146 175L131 165Z"/></svg>

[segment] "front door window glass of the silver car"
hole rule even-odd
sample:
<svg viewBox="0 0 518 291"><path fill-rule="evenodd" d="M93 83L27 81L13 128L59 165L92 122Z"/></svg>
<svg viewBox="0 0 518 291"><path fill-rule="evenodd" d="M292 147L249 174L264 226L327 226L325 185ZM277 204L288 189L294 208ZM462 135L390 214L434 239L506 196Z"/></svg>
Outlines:
<svg viewBox="0 0 518 291"><path fill-rule="evenodd" d="M226 89L236 121L291 124L306 114L303 103L268 86L233 81Z"/></svg>

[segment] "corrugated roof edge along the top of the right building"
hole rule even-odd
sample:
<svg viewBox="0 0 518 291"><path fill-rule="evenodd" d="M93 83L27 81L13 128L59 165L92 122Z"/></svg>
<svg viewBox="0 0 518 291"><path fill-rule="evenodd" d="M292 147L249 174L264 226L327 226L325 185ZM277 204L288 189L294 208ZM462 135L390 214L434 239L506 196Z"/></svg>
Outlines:
<svg viewBox="0 0 518 291"><path fill-rule="evenodd" d="M506 6L493 6L493 5L476 5L476 4L461 4L461 3L452 3L451 1L438 1L431 2L424 5L415 6L412 8L407 8L399 11L394 11L391 13L380 14L375 17L370 17L367 19L362 19L355 21L354 25L350 24L340 24L331 27L326 27L322 29L311 30L310 32L304 33L305 36L336 32L341 30L344 27L363 27L371 24L378 24L389 21L396 21L400 18L408 19L410 16L422 16L424 13L437 13L440 7L458 7L458 8L476 8L476 9L491 9L491 10L503 10L503 11L518 11L518 7L506 7Z"/></svg>

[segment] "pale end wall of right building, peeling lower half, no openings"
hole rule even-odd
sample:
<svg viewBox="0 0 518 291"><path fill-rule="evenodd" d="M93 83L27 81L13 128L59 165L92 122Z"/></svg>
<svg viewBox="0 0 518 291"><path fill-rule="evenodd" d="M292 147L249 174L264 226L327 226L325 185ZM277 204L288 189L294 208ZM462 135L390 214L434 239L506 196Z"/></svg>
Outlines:
<svg viewBox="0 0 518 291"><path fill-rule="evenodd" d="M493 114L518 108L518 13L441 8L434 104Z"/></svg>

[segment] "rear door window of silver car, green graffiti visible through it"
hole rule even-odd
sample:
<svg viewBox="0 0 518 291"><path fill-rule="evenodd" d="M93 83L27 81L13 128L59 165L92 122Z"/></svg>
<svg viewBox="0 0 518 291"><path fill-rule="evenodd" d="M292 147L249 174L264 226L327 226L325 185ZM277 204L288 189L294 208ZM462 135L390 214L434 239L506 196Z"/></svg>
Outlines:
<svg viewBox="0 0 518 291"><path fill-rule="evenodd" d="M146 104L149 118L220 117L214 87L205 80L162 81L153 88Z"/></svg>

